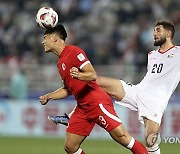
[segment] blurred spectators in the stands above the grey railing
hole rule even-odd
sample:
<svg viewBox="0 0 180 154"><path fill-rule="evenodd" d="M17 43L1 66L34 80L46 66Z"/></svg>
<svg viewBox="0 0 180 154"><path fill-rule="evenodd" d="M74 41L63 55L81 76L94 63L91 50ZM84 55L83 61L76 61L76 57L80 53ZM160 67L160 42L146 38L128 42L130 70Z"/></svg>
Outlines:
<svg viewBox="0 0 180 154"><path fill-rule="evenodd" d="M141 71L160 19L175 24L180 41L179 0L1 0L0 63L56 63L44 54L43 30L35 23L42 6L59 14L68 43L83 48L94 65L132 64Z"/></svg>

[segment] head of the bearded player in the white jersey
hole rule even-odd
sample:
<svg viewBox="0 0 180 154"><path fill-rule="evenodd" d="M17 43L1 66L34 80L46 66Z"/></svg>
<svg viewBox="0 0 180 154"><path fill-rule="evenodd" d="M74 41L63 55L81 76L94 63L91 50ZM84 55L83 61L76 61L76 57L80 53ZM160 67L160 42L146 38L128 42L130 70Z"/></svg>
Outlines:
<svg viewBox="0 0 180 154"><path fill-rule="evenodd" d="M157 21L154 27L154 46L162 46L167 40L172 40L175 34L174 25L168 21Z"/></svg>

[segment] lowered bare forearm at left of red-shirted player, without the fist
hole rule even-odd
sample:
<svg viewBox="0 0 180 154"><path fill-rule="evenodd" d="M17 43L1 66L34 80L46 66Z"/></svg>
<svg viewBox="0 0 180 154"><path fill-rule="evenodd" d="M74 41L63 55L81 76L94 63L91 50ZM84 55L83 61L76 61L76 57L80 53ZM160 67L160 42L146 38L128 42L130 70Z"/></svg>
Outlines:
<svg viewBox="0 0 180 154"><path fill-rule="evenodd" d="M70 95L70 93L66 88L62 87L46 95L48 99L56 100L56 99L66 98L67 96Z"/></svg>

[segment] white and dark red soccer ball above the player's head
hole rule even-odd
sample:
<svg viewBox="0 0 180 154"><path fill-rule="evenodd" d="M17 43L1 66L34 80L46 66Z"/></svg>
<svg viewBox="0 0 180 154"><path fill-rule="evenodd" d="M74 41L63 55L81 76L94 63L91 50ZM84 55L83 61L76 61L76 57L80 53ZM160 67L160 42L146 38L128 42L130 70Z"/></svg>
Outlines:
<svg viewBox="0 0 180 154"><path fill-rule="evenodd" d="M36 15L36 22L42 28L52 28L58 23L58 14L51 7L42 7Z"/></svg>

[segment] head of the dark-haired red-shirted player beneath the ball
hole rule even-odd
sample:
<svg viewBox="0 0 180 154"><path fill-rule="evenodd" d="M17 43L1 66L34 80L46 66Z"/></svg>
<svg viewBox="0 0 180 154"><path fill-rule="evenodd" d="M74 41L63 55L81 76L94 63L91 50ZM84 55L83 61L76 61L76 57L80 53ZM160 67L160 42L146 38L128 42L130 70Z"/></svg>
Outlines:
<svg viewBox="0 0 180 154"><path fill-rule="evenodd" d="M45 52L55 50L57 46L63 45L67 38L67 33L63 25L59 24L53 28L49 28L44 33L43 45Z"/></svg>

